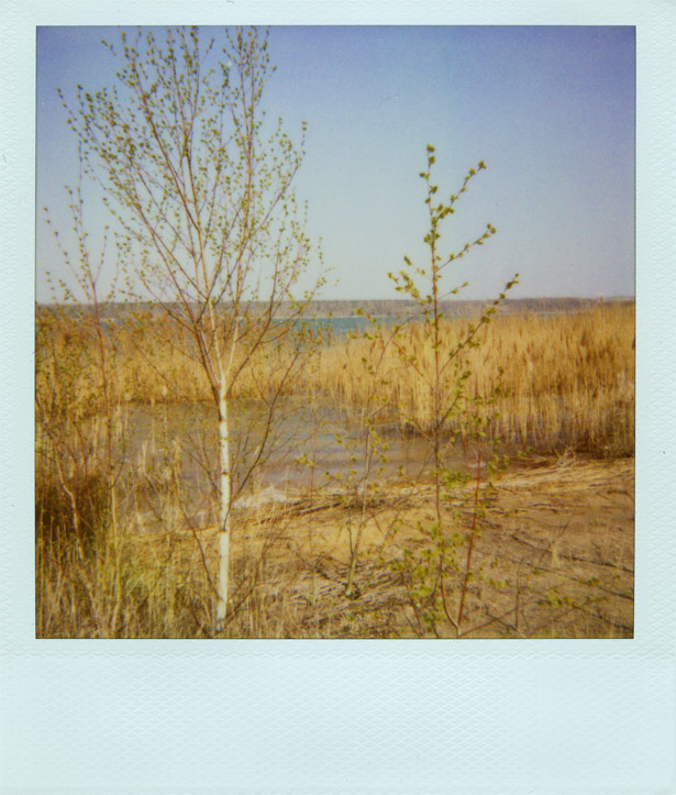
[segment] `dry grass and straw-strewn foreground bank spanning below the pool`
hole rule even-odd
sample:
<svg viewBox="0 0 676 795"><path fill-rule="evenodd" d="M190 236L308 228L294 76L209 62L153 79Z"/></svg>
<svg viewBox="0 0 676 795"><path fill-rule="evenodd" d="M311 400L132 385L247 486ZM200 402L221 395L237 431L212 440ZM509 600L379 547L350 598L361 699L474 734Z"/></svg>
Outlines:
<svg viewBox="0 0 676 795"><path fill-rule="evenodd" d="M632 462L539 463L487 495L465 637L631 637ZM468 492L453 506L458 531L472 520ZM429 539L420 523L431 505L425 486L391 485L372 501L356 598L344 593L354 503L315 494L241 512L224 637L455 637L439 599L435 626L424 626L410 571L396 565L407 553L422 559ZM211 637L213 526L128 530L84 562L73 553L67 565L38 545L38 636ZM445 592L453 608L459 581Z"/></svg>

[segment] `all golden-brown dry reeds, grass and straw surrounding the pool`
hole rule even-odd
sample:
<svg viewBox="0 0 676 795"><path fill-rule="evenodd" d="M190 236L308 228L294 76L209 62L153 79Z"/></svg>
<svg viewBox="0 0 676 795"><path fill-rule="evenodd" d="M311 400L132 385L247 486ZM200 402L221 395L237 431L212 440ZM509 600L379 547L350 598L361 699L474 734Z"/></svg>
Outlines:
<svg viewBox="0 0 676 795"><path fill-rule="evenodd" d="M108 322L97 342L96 319L86 312L75 319L38 311L36 632L211 637L212 462L197 440L191 450L177 441L159 416L141 446L130 446L129 428L132 404L188 406L207 400L208 385L169 321ZM444 333L462 336L467 323L447 322ZM380 346L381 419L424 426L426 398L412 379L399 377L405 371L389 333L320 349L293 390L302 399L358 409L374 388L362 360ZM418 332L411 324L400 333L414 340ZM473 526L477 530L463 634L629 637L633 461L621 456L633 451L633 307L501 317L486 335L468 352L468 387L489 393L503 366L508 395L494 430L514 452L531 446L543 455L527 451L492 485L483 478L480 510L474 482L458 482L444 507L453 543L462 546ZM240 395L264 398L287 355L274 343L263 349L247 363ZM421 366L424 361L421 352ZM565 453L572 449L594 459ZM198 505L185 472L188 459L196 465L202 454L206 487ZM357 486L314 484L304 493L291 489L285 504L252 500L236 509L226 636L455 637L446 615L455 615L464 593L463 571L440 584L429 565L430 482L374 477L362 500ZM363 551L347 598L357 525Z"/></svg>

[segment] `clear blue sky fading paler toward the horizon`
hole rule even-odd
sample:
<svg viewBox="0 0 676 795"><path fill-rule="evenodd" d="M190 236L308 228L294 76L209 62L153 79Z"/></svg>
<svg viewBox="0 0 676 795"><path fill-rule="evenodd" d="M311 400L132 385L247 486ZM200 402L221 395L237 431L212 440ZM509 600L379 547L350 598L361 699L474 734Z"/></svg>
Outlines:
<svg viewBox="0 0 676 795"><path fill-rule="evenodd" d="M37 30L37 207L64 234L77 153L56 89L110 85L100 40L117 35ZM405 254L423 264L428 143L446 196L478 161L488 166L442 241L453 251L488 222L498 230L450 277L469 281L463 297L490 298L516 272L513 296L633 295L633 27L278 26L270 54L268 113L297 140L308 122L297 187L331 268L324 297L396 297L387 272ZM87 213L96 234L93 195ZM43 272L59 260L40 211L36 256L47 300Z"/></svg>

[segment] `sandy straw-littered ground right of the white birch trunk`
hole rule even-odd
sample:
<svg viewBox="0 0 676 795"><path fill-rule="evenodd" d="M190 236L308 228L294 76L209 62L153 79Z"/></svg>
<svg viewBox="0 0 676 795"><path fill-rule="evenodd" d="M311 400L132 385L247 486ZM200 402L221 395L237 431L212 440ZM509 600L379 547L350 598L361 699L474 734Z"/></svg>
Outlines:
<svg viewBox="0 0 676 795"><path fill-rule="evenodd" d="M633 467L630 459L538 457L496 478L495 489L481 484L466 587L472 482L445 507L443 583L440 540L430 535L431 485L388 484L366 505L317 495L270 507L267 519L244 522L234 556L254 560L262 539L270 539L265 528L277 528L266 548L258 599L262 611L275 607L284 620L270 623L266 637L628 638ZM345 583L359 528L348 598Z"/></svg>

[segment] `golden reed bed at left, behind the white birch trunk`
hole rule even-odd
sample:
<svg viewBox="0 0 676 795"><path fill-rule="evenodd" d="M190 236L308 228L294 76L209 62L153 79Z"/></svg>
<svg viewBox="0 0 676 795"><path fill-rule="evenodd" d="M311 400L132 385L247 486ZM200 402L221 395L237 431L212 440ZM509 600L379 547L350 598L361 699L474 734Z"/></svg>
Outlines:
<svg viewBox="0 0 676 795"><path fill-rule="evenodd" d="M101 341L98 328L104 331ZM239 345L232 367L237 374L230 393L232 398L266 399L284 390L289 373L302 364L300 345L312 346L302 329L284 342L274 328L265 336L266 343L254 354L246 336ZM43 308L37 313L36 333L38 400L53 402L60 397L78 417L99 412L104 395L101 345L111 376L106 385L111 404L191 404L213 399L193 339L169 318L130 310L121 318L97 322L91 312Z"/></svg>

